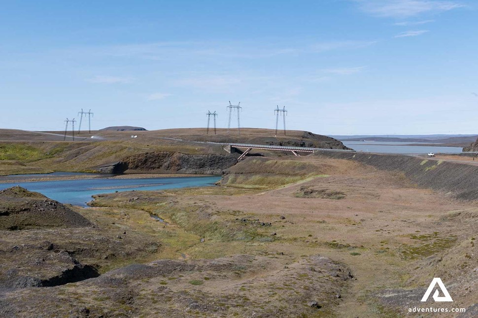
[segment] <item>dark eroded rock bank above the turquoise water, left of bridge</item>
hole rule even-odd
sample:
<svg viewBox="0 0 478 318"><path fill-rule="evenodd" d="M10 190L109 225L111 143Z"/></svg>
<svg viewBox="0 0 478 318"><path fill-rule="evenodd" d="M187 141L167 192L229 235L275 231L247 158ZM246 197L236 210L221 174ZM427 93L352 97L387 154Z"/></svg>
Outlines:
<svg viewBox="0 0 478 318"><path fill-rule="evenodd" d="M133 155L121 161L102 167L106 173L125 171L220 175L235 165L237 159L232 155L206 154L191 155L179 152L146 152Z"/></svg>

